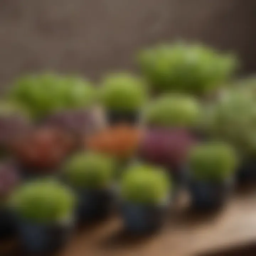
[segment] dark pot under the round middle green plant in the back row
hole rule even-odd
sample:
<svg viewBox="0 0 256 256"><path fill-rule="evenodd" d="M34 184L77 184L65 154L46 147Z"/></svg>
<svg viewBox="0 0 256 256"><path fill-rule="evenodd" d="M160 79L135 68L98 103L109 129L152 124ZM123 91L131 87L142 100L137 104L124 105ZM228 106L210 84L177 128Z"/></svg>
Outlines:
<svg viewBox="0 0 256 256"><path fill-rule="evenodd" d="M122 112L122 111L107 111L106 113L108 124L115 125L119 123L137 124L140 120L138 111Z"/></svg>

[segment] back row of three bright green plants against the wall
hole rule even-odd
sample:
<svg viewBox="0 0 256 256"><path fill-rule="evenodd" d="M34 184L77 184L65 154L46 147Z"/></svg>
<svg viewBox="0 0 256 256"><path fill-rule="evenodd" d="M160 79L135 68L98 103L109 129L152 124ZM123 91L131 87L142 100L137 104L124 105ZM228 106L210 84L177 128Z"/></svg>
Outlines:
<svg viewBox="0 0 256 256"><path fill-rule="evenodd" d="M204 99L217 94L238 66L233 55L184 43L143 50L138 63L142 76L113 73L103 78L97 89L78 76L27 75L15 82L9 97L37 121L94 102L105 107L109 121L124 116L135 121L148 96L171 92Z"/></svg>

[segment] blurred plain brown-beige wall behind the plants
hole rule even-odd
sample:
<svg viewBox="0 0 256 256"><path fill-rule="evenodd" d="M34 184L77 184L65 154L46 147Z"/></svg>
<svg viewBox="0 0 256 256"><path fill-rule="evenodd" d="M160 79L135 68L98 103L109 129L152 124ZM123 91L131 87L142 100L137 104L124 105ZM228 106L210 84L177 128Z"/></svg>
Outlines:
<svg viewBox="0 0 256 256"><path fill-rule="evenodd" d="M0 85L27 71L97 78L176 38L236 50L256 69L256 0L0 0Z"/></svg>

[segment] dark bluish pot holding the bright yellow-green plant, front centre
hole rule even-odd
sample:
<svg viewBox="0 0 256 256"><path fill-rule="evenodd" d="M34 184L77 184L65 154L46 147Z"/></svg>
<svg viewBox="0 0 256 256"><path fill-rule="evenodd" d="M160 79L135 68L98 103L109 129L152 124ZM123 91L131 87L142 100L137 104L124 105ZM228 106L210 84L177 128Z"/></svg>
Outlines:
<svg viewBox="0 0 256 256"><path fill-rule="evenodd" d="M137 234L151 233L160 229L166 212L167 205L145 206L125 202L121 206L125 229Z"/></svg>

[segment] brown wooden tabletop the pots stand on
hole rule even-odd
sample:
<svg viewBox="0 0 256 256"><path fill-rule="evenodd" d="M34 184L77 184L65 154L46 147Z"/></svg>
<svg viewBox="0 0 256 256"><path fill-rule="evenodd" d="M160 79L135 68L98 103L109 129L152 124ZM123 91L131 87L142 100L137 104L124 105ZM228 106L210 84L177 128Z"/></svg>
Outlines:
<svg viewBox="0 0 256 256"><path fill-rule="evenodd" d="M211 214L194 213L180 202L170 211L164 228L154 236L136 238L125 234L117 217L86 226L76 231L70 244L57 256L233 255L229 249L254 243L256 190L243 190L236 192L224 209ZM256 247L251 250L252 254L234 255L256 255ZM26 255L18 251L13 241L0 244L1 256Z"/></svg>

